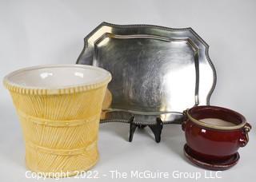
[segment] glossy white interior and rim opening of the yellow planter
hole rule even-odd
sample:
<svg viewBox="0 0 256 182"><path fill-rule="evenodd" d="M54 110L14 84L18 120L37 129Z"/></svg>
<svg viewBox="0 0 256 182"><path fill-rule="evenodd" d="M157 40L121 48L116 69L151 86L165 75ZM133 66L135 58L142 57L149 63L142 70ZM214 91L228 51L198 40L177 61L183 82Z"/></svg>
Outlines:
<svg viewBox="0 0 256 182"><path fill-rule="evenodd" d="M92 65L39 65L18 69L4 78L26 89L66 89L110 81L111 74Z"/></svg>

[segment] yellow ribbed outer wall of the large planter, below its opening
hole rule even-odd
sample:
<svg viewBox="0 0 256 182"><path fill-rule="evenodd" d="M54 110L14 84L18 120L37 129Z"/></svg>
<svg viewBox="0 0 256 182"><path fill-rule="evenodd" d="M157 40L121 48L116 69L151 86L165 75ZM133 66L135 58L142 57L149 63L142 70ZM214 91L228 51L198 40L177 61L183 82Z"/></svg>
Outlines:
<svg viewBox="0 0 256 182"><path fill-rule="evenodd" d="M22 124L27 168L76 175L97 162L99 117L107 83L52 95L23 92L5 84Z"/></svg>

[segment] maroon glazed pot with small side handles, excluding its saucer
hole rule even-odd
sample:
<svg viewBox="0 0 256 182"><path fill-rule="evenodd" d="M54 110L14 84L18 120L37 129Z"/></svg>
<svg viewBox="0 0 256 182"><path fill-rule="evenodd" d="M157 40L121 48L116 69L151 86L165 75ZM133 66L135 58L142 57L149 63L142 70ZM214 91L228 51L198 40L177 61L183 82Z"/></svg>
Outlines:
<svg viewBox="0 0 256 182"><path fill-rule="evenodd" d="M233 110L217 106L196 106L184 111L182 129L186 135L186 145L205 162L228 160L246 146L251 126L245 117ZM200 121L216 118L233 125L217 125Z"/></svg>

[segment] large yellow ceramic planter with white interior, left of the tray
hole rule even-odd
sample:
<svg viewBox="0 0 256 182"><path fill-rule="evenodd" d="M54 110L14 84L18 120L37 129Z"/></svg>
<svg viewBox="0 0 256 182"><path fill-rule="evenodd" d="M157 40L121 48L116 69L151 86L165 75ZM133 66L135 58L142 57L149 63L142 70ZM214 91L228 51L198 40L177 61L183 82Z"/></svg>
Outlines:
<svg viewBox="0 0 256 182"><path fill-rule="evenodd" d="M110 73L89 65L46 65L4 78L26 143L26 166L75 175L98 160L98 125ZM63 173L64 172L64 173Z"/></svg>

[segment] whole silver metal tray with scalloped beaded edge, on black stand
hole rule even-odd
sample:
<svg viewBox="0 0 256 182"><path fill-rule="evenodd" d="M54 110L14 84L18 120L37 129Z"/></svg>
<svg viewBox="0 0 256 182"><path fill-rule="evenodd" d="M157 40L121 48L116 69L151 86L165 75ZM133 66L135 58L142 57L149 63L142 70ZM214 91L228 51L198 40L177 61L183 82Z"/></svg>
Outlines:
<svg viewBox="0 0 256 182"><path fill-rule="evenodd" d="M179 123L182 111L209 105L216 73L209 46L192 30L102 22L86 36L78 64L112 73L112 102L103 122Z"/></svg>

